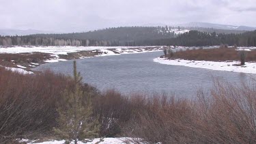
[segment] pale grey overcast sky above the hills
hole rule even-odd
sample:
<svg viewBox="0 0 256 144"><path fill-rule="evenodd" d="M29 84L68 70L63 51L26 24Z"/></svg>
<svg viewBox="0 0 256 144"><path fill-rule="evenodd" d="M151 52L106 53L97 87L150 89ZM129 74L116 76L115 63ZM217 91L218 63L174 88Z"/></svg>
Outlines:
<svg viewBox="0 0 256 144"><path fill-rule="evenodd" d="M206 22L256 27L256 0L0 0L0 29L88 31Z"/></svg>

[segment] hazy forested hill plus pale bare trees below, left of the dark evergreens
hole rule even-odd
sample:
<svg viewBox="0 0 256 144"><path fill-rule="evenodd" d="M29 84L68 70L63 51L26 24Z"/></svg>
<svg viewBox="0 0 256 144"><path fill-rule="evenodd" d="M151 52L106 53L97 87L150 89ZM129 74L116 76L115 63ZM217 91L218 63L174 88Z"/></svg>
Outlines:
<svg viewBox="0 0 256 144"><path fill-rule="evenodd" d="M0 36L2 46L138 46L143 40L175 38L174 27L117 27L86 33ZM138 44L137 44L138 43ZM147 44L143 44L147 45Z"/></svg>

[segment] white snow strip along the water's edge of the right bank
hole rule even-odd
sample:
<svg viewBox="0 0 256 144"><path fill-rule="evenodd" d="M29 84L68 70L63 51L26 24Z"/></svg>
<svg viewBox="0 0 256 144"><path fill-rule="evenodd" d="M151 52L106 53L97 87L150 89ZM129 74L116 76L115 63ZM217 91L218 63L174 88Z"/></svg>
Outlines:
<svg viewBox="0 0 256 144"><path fill-rule="evenodd" d="M165 59L165 58L156 58L155 62L173 65L173 66L188 66L191 68L205 68L209 70L223 70L229 72L244 72L250 74L256 74L256 63L245 63L244 66L233 66L240 64L240 61L191 61L184 59Z"/></svg>

